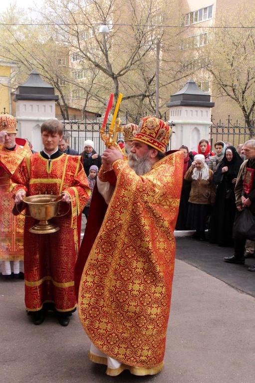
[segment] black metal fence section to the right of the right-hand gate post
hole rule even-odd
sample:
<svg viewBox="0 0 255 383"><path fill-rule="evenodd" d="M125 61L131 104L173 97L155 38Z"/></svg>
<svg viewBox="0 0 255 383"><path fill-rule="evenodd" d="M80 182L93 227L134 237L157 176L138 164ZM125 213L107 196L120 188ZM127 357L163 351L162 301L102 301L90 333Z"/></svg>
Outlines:
<svg viewBox="0 0 255 383"><path fill-rule="evenodd" d="M237 147L239 144L244 144L246 141L254 138L253 131L254 127L248 128L246 124L240 125L238 120L235 123L232 122L230 116L226 123L222 122L222 120L215 123L212 119L212 125L210 126L211 147L217 141L230 142Z"/></svg>

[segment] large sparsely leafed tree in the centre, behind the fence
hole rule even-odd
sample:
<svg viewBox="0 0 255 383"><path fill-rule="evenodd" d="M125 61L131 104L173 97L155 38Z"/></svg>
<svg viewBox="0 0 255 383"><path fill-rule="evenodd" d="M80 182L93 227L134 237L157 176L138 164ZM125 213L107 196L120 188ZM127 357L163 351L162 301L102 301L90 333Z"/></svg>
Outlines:
<svg viewBox="0 0 255 383"><path fill-rule="evenodd" d="M0 55L20 63L25 73L36 68L56 88L65 119L68 104L75 103L83 114L87 108L103 113L109 93L114 92L116 100L121 91L121 112L129 110L130 119L139 121L144 113L155 114L156 41L165 49L160 56L162 109L172 84L184 77L171 54L174 44L167 43L179 33L165 28L171 23L171 4L46 0L40 10L45 25L6 27ZM101 24L107 24L110 32L98 33Z"/></svg>

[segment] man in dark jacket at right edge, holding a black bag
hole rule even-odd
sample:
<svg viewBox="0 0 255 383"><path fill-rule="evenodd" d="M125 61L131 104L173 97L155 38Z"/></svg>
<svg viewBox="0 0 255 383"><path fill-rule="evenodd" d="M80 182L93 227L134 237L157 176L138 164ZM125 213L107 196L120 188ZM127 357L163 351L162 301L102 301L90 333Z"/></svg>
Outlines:
<svg viewBox="0 0 255 383"><path fill-rule="evenodd" d="M246 161L241 165L235 187L236 205L239 211L248 207L255 215L255 140L247 141L243 146ZM234 238L235 253L231 257L225 257L229 263L245 263L246 237L238 235ZM255 271L255 265L248 267L249 271Z"/></svg>

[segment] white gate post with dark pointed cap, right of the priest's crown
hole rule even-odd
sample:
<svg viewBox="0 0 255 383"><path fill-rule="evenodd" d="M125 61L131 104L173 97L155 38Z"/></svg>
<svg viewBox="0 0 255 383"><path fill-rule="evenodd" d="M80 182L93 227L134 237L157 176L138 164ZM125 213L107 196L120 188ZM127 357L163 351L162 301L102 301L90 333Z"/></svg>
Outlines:
<svg viewBox="0 0 255 383"><path fill-rule="evenodd" d="M209 140L211 125L211 95L203 92L190 79L184 87L170 97L169 123L173 123L171 148L178 149L186 145L190 151L197 151L201 139Z"/></svg>

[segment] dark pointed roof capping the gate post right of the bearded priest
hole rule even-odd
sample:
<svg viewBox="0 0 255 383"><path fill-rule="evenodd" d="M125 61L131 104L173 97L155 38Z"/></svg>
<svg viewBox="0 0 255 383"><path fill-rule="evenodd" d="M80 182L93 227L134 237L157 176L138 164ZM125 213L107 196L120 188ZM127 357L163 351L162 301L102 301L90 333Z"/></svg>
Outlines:
<svg viewBox="0 0 255 383"><path fill-rule="evenodd" d="M190 79L179 92L170 97L167 106L205 106L212 108L215 104L211 102L211 95L203 92L194 80Z"/></svg>

